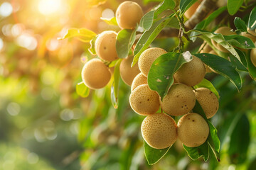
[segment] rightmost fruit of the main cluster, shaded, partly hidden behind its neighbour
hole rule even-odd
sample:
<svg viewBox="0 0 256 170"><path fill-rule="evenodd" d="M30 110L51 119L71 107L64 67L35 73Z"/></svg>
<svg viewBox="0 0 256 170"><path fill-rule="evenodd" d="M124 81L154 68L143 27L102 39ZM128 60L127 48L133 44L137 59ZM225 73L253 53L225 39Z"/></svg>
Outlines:
<svg viewBox="0 0 256 170"><path fill-rule="evenodd" d="M200 103L207 118L212 118L218 111L219 102L217 96L207 88L201 87L193 91L196 100Z"/></svg>

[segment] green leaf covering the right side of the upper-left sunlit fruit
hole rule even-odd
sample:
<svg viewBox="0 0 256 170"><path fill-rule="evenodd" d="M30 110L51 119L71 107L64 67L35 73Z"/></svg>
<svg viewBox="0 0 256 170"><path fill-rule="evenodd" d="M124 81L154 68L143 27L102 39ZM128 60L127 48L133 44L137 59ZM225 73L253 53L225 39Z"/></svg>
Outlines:
<svg viewBox="0 0 256 170"><path fill-rule="evenodd" d="M119 58L125 58L128 56L129 50L131 50L135 39L136 29L123 29L119 31L116 42L117 55Z"/></svg>

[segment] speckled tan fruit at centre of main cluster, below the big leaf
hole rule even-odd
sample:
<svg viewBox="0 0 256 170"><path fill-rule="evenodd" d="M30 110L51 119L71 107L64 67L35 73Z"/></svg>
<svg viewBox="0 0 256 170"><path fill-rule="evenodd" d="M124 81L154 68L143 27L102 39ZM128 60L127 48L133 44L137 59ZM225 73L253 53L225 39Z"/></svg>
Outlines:
<svg viewBox="0 0 256 170"><path fill-rule="evenodd" d="M173 84L160 101L161 108L169 115L184 115L192 110L196 104L196 96L191 87L185 84Z"/></svg>

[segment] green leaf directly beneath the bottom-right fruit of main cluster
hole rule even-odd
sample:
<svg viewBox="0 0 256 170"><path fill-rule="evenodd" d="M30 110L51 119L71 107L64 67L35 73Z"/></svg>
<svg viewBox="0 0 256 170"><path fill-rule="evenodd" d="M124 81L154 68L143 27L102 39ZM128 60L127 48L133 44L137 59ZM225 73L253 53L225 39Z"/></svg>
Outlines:
<svg viewBox="0 0 256 170"><path fill-rule="evenodd" d="M191 157L191 159L193 160L203 157L203 160L207 162L209 158L209 148L207 141L199 147L187 147L186 145L183 145L183 148L188 153L188 156Z"/></svg>

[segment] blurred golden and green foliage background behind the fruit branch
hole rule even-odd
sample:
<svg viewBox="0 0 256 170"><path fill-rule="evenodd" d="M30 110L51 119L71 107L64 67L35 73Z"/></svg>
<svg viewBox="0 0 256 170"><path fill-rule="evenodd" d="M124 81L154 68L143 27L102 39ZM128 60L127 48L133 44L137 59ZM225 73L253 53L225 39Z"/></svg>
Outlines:
<svg viewBox="0 0 256 170"><path fill-rule="evenodd" d="M0 169L255 169L256 84L247 74L240 93L227 79L208 74L221 96L212 119L222 142L220 163L192 161L176 142L149 166L140 133L144 116L130 108L129 86L120 80L117 109L110 85L87 98L76 94L82 65L92 58L90 44L57 38L68 28L118 31L100 18L112 18L121 2L0 1ZM146 13L159 1L137 3ZM178 38L166 38L152 46L169 51L177 44Z"/></svg>

